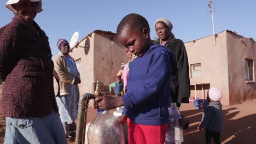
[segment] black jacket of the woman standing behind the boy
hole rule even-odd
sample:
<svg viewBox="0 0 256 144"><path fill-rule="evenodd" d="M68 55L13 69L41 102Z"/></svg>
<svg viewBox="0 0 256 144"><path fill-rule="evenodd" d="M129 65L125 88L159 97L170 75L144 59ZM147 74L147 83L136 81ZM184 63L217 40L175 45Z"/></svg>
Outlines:
<svg viewBox="0 0 256 144"><path fill-rule="evenodd" d="M155 44L160 44L160 40L156 40ZM176 76L173 76L171 80L171 103L189 103L189 64L185 45L182 40L171 36L165 46L174 53L177 65Z"/></svg>

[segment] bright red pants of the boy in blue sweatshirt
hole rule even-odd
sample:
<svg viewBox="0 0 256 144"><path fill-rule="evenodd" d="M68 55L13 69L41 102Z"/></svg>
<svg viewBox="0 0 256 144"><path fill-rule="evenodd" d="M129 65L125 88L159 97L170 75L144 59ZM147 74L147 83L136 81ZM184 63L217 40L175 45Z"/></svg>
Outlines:
<svg viewBox="0 0 256 144"><path fill-rule="evenodd" d="M142 125L133 123L127 118L128 142L129 144L163 144L167 124L163 125Z"/></svg>

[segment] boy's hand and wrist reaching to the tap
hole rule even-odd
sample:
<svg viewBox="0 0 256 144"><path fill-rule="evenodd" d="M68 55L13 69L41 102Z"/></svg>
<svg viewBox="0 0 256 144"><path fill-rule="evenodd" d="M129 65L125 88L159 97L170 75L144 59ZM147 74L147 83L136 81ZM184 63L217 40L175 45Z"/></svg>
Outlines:
<svg viewBox="0 0 256 144"><path fill-rule="evenodd" d="M95 99L97 106L102 110L110 110L115 107L123 106L124 102L121 97L113 98L110 96L101 96Z"/></svg>

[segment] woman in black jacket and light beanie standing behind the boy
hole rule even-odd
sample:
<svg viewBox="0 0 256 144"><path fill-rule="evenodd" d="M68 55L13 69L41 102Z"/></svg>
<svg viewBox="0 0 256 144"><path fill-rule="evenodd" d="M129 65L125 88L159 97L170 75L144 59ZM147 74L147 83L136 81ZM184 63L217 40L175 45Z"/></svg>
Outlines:
<svg viewBox="0 0 256 144"><path fill-rule="evenodd" d="M176 39L172 33L172 23L165 19L159 18L155 21L155 32L158 39L155 44L161 44L170 49L174 55L174 64L176 74L171 77L171 103L177 103L180 107L181 103L189 103L190 97L190 80L188 56L184 43L180 39ZM171 59L172 61L172 59ZM173 64L173 65L174 65Z"/></svg>

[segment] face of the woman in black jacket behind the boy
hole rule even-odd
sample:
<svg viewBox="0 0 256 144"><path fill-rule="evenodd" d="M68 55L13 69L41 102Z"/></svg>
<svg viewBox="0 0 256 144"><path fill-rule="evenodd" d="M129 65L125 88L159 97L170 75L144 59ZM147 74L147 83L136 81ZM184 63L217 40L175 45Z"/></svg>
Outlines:
<svg viewBox="0 0 256 144"><path fill-rule="evenodd" d="M155 24L155 32L156 35L158 35L158 38L164 41L168 40L171 35L169 28L161 21Z"/></svg>

